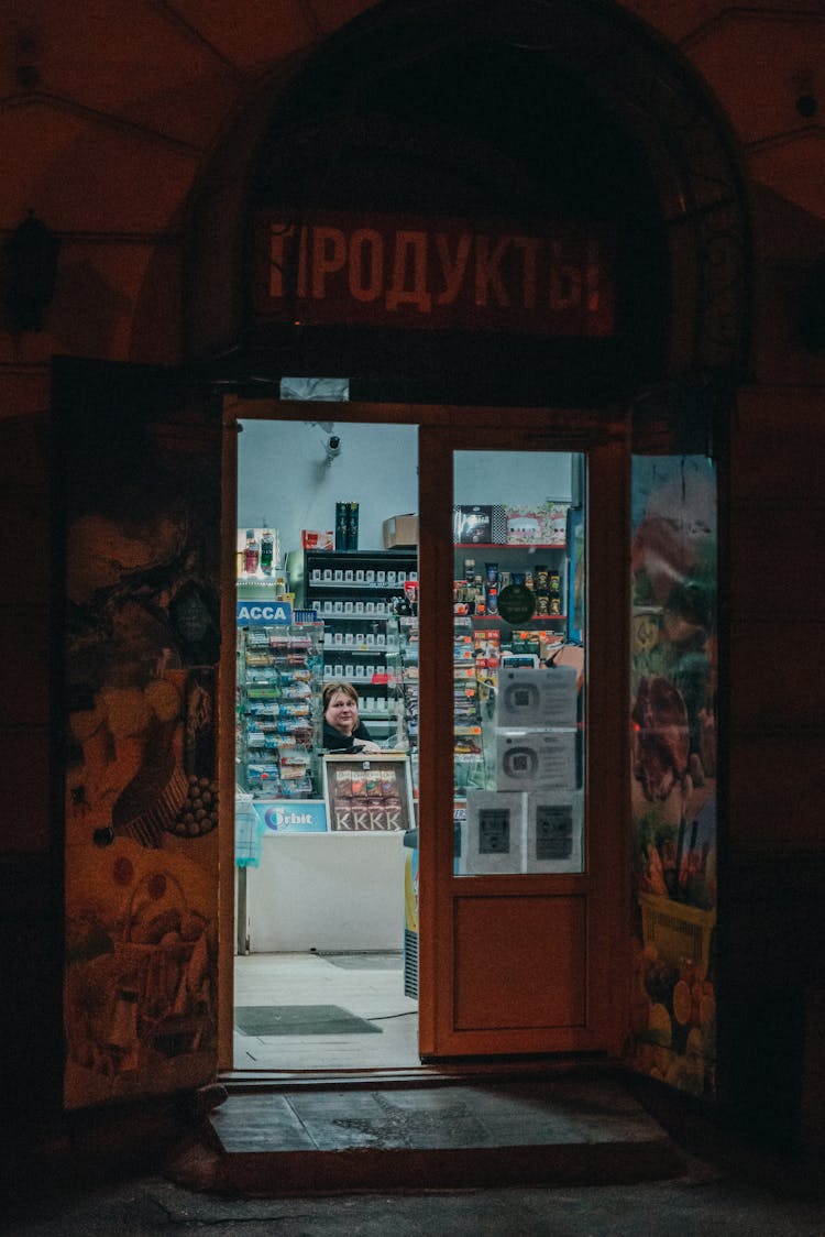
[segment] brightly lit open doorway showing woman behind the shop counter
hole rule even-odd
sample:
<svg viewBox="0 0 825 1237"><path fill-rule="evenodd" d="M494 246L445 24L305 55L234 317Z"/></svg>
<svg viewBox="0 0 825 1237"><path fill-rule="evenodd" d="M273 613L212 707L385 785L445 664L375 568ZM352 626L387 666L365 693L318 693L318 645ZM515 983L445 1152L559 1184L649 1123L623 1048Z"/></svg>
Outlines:
<svg viewBox="0 0 825 1237"><path fill-rule="evenodd" d="M236 1070L419 1065L417 427L339 413L239 419Z"/></svg>

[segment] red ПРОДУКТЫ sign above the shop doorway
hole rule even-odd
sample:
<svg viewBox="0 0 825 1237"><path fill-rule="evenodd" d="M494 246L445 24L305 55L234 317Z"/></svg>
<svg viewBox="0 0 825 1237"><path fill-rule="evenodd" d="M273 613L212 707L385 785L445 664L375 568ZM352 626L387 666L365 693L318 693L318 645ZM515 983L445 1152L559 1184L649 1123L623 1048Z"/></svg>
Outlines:
<svg viewBox="0 0 825 1237"><path fill-rule="evenodd" d="M615 244L606 228L262 212L255 310L304 324L613 332Z"/></svg>

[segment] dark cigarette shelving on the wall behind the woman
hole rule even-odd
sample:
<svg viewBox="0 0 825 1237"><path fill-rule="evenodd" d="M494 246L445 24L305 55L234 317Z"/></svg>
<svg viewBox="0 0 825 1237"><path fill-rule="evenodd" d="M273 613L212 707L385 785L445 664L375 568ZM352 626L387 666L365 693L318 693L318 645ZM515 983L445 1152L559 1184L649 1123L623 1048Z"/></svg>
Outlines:
<svg viewBox="0 0 825 1237"><path fill-rule="evenodd" d="M298 569L299 567L299 569ZM291 555L289 585L323 623L323 678L357 689L376 742L407 743L400 612L418 580L414 550L304 550Z"/></svg>

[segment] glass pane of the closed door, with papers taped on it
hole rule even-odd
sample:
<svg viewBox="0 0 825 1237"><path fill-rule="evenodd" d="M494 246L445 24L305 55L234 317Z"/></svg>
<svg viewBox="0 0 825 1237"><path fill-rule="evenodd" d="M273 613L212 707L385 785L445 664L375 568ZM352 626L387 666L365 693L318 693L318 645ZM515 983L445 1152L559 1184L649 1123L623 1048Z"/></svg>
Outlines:
<svg viewBox="0 0 825 1237"><path fill-rule="evenodd" d="M454 456L456 875L584 866L583 463Z"/></svg>

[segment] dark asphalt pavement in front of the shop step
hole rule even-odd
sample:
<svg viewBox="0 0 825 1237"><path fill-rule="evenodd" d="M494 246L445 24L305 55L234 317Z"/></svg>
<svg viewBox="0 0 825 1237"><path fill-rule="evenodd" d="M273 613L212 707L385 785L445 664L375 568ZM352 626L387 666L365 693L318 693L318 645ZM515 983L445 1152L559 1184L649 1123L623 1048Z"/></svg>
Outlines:
<svg viewBox="0 0 825 1237"><path fill-rule="evenodd" d="M821 1157L743 1147L693 1121L669 1129L673 1175L612 1184L340 1190L252 1197L199 1181L207 1100L7 1122L9 1237L825 1237ZM218 1110L219 1111L219 1110ZM660 1113L657 1115L660 1117ZM502 1148L506 1157L506 1148Z"/></svg>

